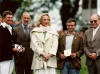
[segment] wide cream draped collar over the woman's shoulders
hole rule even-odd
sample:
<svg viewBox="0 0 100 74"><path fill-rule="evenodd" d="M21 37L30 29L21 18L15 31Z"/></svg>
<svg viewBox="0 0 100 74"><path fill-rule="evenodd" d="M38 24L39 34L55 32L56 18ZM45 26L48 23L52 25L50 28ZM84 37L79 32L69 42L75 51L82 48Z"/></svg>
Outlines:
<svg viewBox="0 0 100 74"><path fill-rule="evenodd" d="M43 26L35 27L31 31L31 34L33 32L36 32L36 36L38 37L38 39L41 40L44 43L48 38L50 38L52 36L52 34L58 36L58 33L55 30L53 30L51 27L49 27L49 26L48 27L43 27ZM45 37L44 37L43 32L46 32Z"/></svg>

